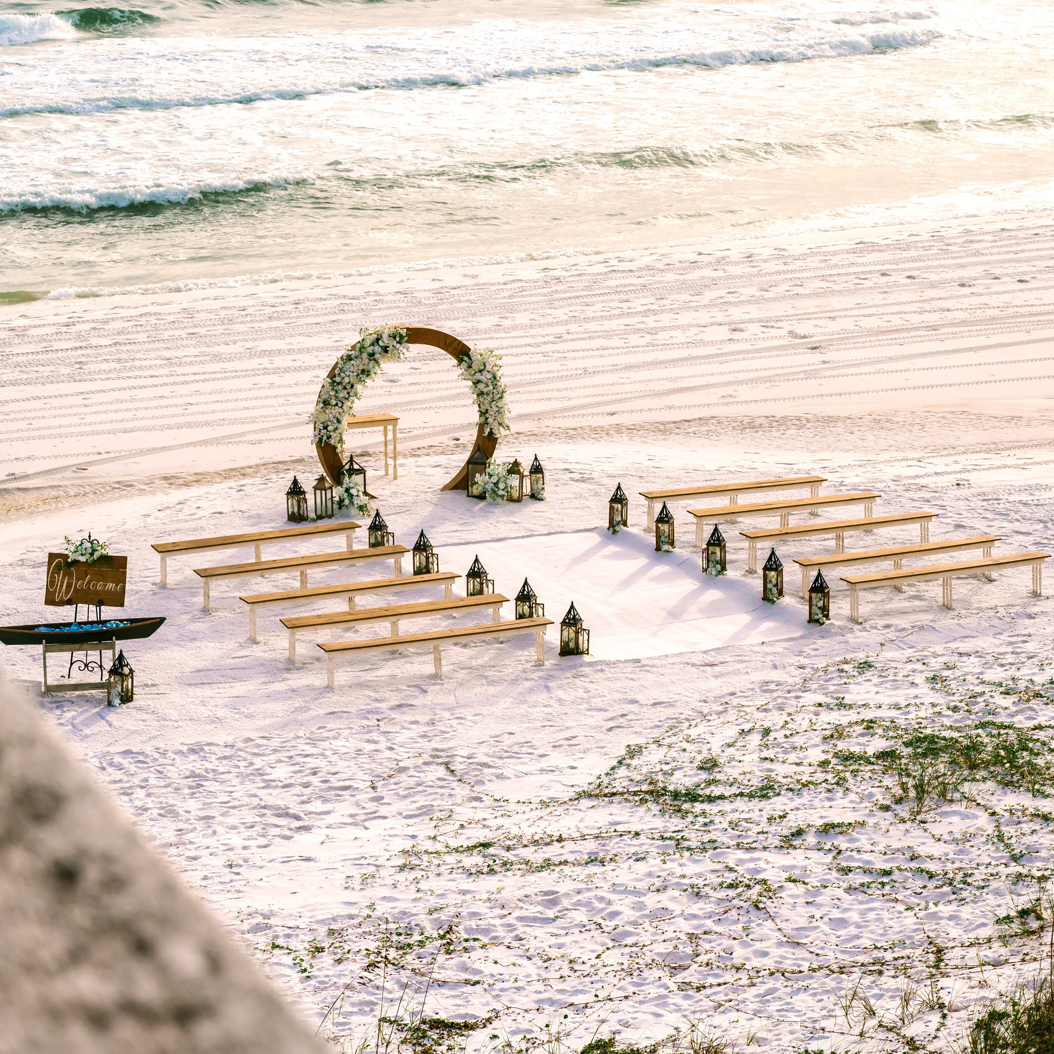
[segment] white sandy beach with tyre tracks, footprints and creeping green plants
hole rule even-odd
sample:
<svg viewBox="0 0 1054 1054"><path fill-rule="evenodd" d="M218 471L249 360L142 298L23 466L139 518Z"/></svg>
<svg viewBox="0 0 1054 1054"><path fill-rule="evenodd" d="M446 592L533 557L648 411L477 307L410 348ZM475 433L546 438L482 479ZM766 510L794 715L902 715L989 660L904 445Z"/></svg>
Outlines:
<svg viewBox="0 0 1054 1054"><path fill-rule="evenodd" d="M829 538L780 547L770 607L739 531L775 518L722 525L729 572L707 579L688 503L657 553L638 495L815 473L876 514L935 512L933 541L1051 551L1052 246L1036 213L5 306L3 622L51 617L64 535L128 554L124 612L167 619L126 649L135 702L38 704L335 1049L423 1008L473 1052L692 1022L774 1054L952 1050L1042 951L1019 909L1054 866L1049 599L1015 569L956 579L953 610L936 582L865 592L857 625L834 570L832 620L806 625L792 559ZM318 473L321 378L382 323L499 351L499 455L547 481L544 503L440 491L475 410L414 347L357 408L399 416L398 481L379 432L349 441L396 540L426 530L461 574L479 554L508 597L529 578L558 622L573 601L590 657L551 629L544 666L533 638L481 641L445 649L443 680L430 650L388 651L330 690L314 642L338 629L295 666L284 612L249 640L238 596L295 574L219 584L212 613L193 568L228 554L158 583L151 543L285 526L294 472ZM0 659L34 694L38 650ZM901 787L898 759L946 797Z"/></svg>

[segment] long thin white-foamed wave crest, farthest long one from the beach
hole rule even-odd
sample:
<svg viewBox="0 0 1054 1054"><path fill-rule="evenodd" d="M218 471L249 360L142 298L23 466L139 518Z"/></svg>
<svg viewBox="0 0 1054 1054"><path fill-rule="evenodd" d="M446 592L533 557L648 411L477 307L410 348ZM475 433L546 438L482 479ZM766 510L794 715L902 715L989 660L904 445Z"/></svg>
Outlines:
<svg viewBox="0 0 1054 1054"><path fill-rule="evenodd" d="M635 55L598 58L584 61L540 62L527 65L491 67L463 67L429 73L380 74L358 77L334 84L305 84L284 89L267 89L215 95L186 95L170 98L138 95L115 96L103 99L79 99L32 105L0 108L0 117L24 114L93 114L115 110L174 110L181 106L215 106L247 104L274 100L302 99L315 95L334 95L348 92L396 90L413 91L429 87L473 87L500 80L536 79L582 73L613 71L646 71L665 66L701 66L720 70L729 65L749 65L769 62L806 62L813 59L847 58L876 52L899 51L932 43L940 34L931 28L883 30L875 33L854 34L824 39L822 37L780 46L728 46L713 51L675 52L668 55Z"/></svg>

